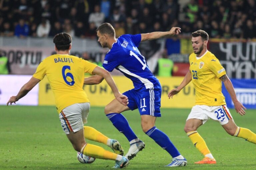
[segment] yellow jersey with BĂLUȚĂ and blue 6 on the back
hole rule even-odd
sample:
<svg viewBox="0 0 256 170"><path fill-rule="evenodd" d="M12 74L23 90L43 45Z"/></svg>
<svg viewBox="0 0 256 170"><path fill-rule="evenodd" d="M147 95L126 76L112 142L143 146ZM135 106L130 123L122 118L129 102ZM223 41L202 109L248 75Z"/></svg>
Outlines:
<svg viewBox="0 0 256 170"><path fill-rule="evenodd" d="M33 77L42 80L47 75L60 113L75 103L89 102L83 90L84 73L92 74L96 64L68 54L55 54L45 58Z"/></svg>

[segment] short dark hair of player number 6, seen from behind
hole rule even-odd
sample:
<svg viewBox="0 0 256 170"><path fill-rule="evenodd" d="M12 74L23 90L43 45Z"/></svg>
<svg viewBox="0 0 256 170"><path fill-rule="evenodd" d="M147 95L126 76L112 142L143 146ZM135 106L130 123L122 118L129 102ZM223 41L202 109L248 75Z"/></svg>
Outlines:
<svg viewBox="0 0 256 170"><path fill-rule="evenodd" d="M55 44L57 50L68 50L70 44L72 43L72 38L67 33L58 33L54 36L53 43Z"/></svg>

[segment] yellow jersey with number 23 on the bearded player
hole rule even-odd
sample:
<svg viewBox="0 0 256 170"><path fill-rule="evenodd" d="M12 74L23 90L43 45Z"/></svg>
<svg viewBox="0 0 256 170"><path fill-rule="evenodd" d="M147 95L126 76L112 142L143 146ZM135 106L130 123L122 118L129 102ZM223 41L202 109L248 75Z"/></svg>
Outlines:
<svg viewBox="0 0 256 170"><path fill-rule="evenodd" d="M196 105L220 106L226 105L225 97L221 92L220 77L226 74L225 68L210 51L201 57L195 53L189 56L189 70L196 90Z"/></svg>

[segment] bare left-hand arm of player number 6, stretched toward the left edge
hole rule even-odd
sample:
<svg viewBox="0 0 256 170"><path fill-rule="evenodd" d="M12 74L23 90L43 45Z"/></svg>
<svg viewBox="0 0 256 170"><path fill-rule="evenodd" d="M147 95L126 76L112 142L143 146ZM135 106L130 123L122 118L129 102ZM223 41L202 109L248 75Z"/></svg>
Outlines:
<svg viewBox="0 0 256 170"><path fill-rule="evenodd" d="M22 97L26 96L26 94L31 90L33 89L33 87L35 87L35 85L37 85L37 83L39 83L41 80L35 78L35 77L32 77L26 84L24 84L19 93L17 94L17 96L12 96L10 97L9 101L7 102L7 106L9 105L12 105L12 103L15 103L17 102L19 99L21 99ZM16 104L16 103L15 103Z"/></svg>

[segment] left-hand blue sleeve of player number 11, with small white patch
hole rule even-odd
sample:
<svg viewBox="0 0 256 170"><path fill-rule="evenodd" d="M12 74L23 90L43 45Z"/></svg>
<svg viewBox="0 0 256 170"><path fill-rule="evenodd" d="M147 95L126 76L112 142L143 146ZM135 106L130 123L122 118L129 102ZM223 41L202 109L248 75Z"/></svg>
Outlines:
<svg viewBox="0 0 256 170"><path fill-rule="evenodd" d="M104 62L102 66L108 70L108 71L113 71L116 67L118 67L119 64L119 59L115 57L111 52L107 53Z"/></svg>

